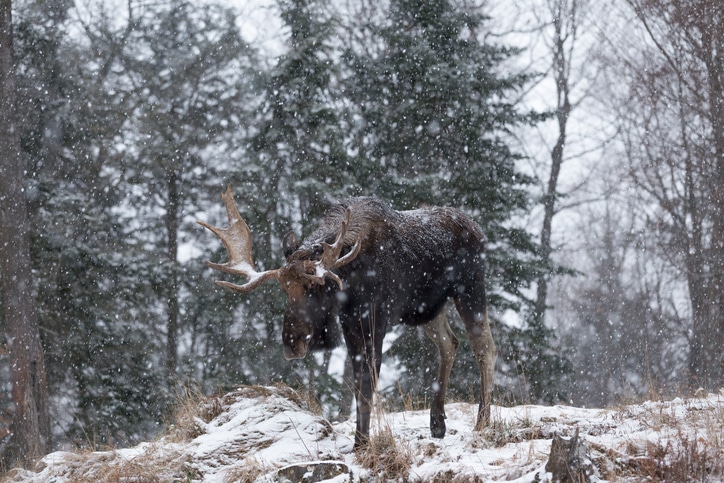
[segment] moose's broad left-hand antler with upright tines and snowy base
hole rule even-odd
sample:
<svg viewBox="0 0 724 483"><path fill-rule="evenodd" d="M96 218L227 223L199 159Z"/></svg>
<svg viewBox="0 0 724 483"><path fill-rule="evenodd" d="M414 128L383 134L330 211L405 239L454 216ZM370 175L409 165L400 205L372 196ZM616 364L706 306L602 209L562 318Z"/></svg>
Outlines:
<svg viewBox="0 0 724 483"><path fill-rule="evenodd" d="M196 223L208 228L221 239L224 247L226 247L226 252L229 254L229 261L226 263L206 262L206 265L221 272L243 275L249 281L244 285L237 285L217 280L216 284L236 292L245 293L253 290L269 278L279 280L279 269L264 272L256 271L254 259L251 256L251 230L249 230L249 226L239 214L239 209L234 201L234 193L231 192L231 185L226 188L226 192L221 195L221 199L224 201L226 214L229 217L228 227L218 228L203 221L197 221Z"/></svg>

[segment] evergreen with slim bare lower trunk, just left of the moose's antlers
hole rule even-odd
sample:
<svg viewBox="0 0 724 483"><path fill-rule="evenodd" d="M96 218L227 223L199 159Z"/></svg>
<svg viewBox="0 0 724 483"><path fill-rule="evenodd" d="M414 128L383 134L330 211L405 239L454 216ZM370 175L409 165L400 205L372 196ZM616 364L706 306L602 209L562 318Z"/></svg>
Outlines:
<svg viewBox="0 0 724 483"><path fill-rule="evenodd" d="M208 321L198 307L207 295L196 284L203 263L187 260L182 250L184 242L206 236L187 214L204 211L209 193L223 186L224 166L216 159L243 124L241 75L253 54L235 20L218 5L174 0L152 6L120 56L128 95L138 101L126 125L122 167L126 202L135 210L126 236L143 247L139 263L152 294L151 323L165 326L169 384L203 372L190 348L180 346L184 335L194 350L205 343L198 337ZM184 376L177 374L179 356Z"/></svg>

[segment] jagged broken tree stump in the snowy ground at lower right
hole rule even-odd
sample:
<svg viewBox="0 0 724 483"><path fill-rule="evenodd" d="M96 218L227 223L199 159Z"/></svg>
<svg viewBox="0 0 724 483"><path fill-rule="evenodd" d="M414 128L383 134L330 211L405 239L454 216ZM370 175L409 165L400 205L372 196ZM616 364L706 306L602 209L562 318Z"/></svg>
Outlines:
<svg viewBox="0 0 724 483"><path fill-rule="evenodd" d="M560 483L590 483L593 463L588 447L578 437L578 428L570 438L553 436L546 471L553 475L553 481Z"/></svg>

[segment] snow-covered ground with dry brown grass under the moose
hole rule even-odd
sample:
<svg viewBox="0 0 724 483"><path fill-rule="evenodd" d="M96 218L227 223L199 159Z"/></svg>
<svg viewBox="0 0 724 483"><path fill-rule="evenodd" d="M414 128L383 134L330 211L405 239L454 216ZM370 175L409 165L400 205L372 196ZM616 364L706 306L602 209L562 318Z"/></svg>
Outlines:
<svg viewBox="0 0 724 483"><path fill-rule="evenodd" d="M187 408L157 441L52 453L5 481L549 481L553 435L576 429L592 481L724 481L724 391L614 409L495 406L482 433L476 406L448 404L444 439L430 437L427 411L378 412L369 453L352 451L353 421L313 406L288 387L244 387Z"/></svg>

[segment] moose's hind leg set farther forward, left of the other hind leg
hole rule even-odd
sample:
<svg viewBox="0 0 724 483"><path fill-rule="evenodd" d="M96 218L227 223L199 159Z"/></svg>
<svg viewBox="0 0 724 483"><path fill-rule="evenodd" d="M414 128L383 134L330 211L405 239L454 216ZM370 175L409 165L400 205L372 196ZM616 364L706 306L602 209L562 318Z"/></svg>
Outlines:
<svg viewBox="0 0 724 483"><path fill-rule="evenodd" d="M440 367L437 373L437 380L433 386L433 399L430 407L430 432L433 438L445 436L445 393L450 379L455 351L458 347L458 339L455 337L450 324L448 323L445 310L422 326L440 354Z"/></svg>

